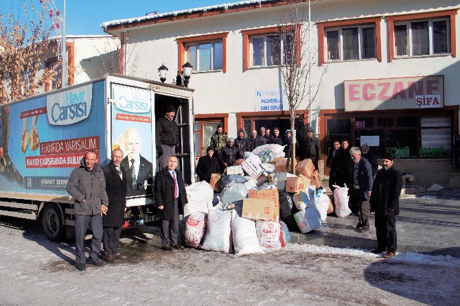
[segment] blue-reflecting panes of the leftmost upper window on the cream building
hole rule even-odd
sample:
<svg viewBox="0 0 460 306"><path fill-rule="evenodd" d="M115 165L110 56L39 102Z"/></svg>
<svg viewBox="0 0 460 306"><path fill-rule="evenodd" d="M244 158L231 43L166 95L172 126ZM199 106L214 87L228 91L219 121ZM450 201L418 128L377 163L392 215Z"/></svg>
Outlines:
<svg viewBox="0 0 460 306"><path fill-rule="evenodd" d="M193 71L222 69L222 40L187 45L185 49Z"/></svg>

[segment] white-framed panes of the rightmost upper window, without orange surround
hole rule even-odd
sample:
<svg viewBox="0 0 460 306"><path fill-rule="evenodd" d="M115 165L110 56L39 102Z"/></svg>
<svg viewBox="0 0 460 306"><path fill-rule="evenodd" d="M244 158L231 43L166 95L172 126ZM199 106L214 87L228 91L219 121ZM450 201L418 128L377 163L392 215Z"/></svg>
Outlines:
<svg viewBox="0 0 460 306"><path fill-rule="evenodd" d="M448 19L395 23L395 56L448 53L448 28Z"/></svg>

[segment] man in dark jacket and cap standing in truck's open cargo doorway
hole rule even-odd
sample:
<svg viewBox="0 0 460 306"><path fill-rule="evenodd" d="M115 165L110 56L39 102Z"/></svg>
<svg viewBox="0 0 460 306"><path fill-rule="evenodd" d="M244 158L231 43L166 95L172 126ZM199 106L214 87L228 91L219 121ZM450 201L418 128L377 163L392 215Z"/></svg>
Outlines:
<svg viewBox="0 0 460 306"><path fill-rule="evenodd" d="M168 158L176 156L177 145L177 124L174 121L176 108L167 105L165 107L165 115L157 120L155 126L155 138L157 144L157 154L160 158L160 169L166 167Z"/></svg>

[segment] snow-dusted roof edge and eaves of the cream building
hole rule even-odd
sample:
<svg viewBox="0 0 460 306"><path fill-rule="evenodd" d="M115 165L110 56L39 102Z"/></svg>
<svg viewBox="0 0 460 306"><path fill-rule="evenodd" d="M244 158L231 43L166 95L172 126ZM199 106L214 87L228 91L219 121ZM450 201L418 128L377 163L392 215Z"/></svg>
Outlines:
<svg viewBox="0 0 460 306"><path fill-rule="evenodd" d="M113 30L121 30L128 27L152 25L155 23L197 18L201 16L212 16L216 14L225 14L242 10L253 10L257 8L266 8L270 6L286 5L289 3L305 1L307 0L246 0L233 3L210 5L203 8L191 8L189 10L178 10L175 12L165 12L161 14L148 14L146 16L140 16L136 18L107 21L102 23L101 27L104 29L104 32L108 32Z"/></svg>

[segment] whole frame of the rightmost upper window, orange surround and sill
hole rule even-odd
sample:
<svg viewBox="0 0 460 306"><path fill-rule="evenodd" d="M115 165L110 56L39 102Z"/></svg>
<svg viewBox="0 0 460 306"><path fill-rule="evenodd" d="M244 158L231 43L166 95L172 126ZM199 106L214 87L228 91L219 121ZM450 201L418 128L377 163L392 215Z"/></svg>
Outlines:
<svg viewBox="0 0 460 306"><path fill-rule="evenodd" d="M393 61L395 58L419 58L420 56L395 56L395 25L400 25L404 23L411 23L414 21L436 21L441 19L448 20L448 53L442 54L430 54L430 55L423 55L423 56L439 56L439 55L448 55L452 56L452 58L457 57L457 43L456 43L456 34L455 34L455 15L457 15L457 10L444 10L439 12L427 12L427 13L420 13L420 14L406 14L406 15L398 15L398 16L387 16L388 21L388 28L389 28L389 51L390 51L390 62ZM408 29L409 32L409 29ZM409 34L408 34L409 35ZM430 33L428 32L428 35ZM408 37L408 45L409 45L409 37ZM430 42L430 50L432 49L431 42ZM408 52L411 54L411 52ZM423 57L422 56L422 57Z"/></svg>

